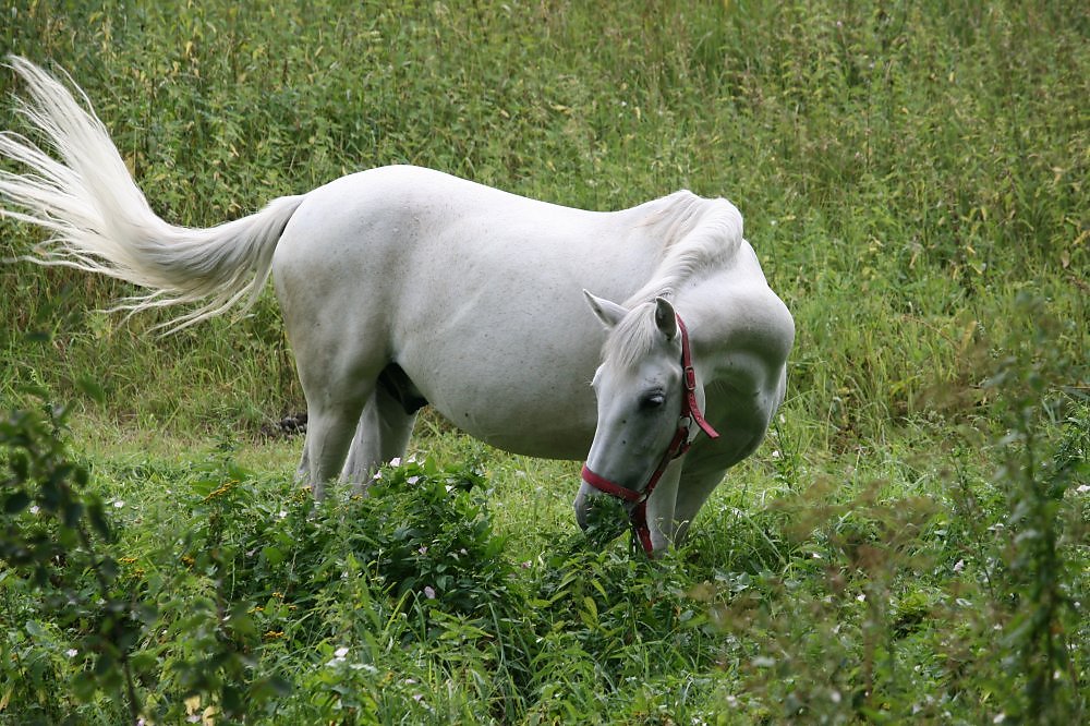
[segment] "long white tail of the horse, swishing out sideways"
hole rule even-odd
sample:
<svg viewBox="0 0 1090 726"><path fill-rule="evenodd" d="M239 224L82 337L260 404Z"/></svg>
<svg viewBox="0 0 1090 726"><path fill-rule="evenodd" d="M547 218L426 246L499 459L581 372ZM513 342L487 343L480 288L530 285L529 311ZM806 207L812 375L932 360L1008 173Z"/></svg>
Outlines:
<svg viewBox="0 0 1090 726"><path fill-rule="evenodd" d="M158 326L171 331L243 300L243 310L254 304L303 196L280 197L257 214L208 229L169 225L152 211L86 95L76 88L81 105L29 61L12 56L8 62L28 90L17 111L62 160L25 136L0 133L0 158L28 170L0 169L0 216L51 233L34 254L19 259L99 273L149 290L113 310L201 303Z"/></svg>

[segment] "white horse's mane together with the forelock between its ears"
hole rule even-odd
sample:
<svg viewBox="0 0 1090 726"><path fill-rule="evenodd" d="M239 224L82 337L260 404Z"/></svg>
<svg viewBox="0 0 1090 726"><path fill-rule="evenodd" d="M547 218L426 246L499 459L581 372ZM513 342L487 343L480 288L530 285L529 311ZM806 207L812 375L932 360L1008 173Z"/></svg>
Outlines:
<svg viewBox="0 0 1090 726"><path fill-rule="evenodd" d="M726 199L705 199L688 190L652 202L643 227L658 228L663 256L654 274L623 306L629 314L606 338L602 358L631 367L658 342L655 298L669 300L688 280L728 262L741 246L742 216Z"/></svg>

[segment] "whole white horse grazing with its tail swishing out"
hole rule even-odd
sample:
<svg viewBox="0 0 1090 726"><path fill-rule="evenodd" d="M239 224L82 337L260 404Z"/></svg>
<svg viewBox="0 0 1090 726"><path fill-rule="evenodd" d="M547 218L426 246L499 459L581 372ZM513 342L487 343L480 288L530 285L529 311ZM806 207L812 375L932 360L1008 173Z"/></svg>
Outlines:
<svg viewBox="0 0 1090 726"><path fill-rule="evenodd" d="M219 227L175 227L85 96L9 62L28 89L20 112L61 159L0 136L0 155L28 169L0 170L0 214L51 232L23 258L150 290L121 307L199 303L175 327L252 304L271 275L306 396L299 474L316 497L401 456L426 403L508 451L585 456L580 523L592 495L622 496L638 525L645 508L642 539L658 550L784 399L794 322L725 199L681 191L583 211L393 166ZM698 437L695 420L719 435Z"/></svg>

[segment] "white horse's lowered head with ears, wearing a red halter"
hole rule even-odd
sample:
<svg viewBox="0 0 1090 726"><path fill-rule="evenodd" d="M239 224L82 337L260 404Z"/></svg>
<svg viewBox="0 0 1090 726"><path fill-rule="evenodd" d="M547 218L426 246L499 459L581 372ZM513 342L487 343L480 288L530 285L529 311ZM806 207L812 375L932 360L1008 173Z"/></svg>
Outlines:
<svg viewBox="0 0 1090 726"><path fill-rule="evenodd" d="M656 298L629 310L585 295L607 338L591 384L597 426L576 497L576 520L586 529L592 498L617 497L651 554L647 498L670 461L688 450L693 423L710 436L718 434L700 413L703 390L688 332L670 302Z"/></svg>

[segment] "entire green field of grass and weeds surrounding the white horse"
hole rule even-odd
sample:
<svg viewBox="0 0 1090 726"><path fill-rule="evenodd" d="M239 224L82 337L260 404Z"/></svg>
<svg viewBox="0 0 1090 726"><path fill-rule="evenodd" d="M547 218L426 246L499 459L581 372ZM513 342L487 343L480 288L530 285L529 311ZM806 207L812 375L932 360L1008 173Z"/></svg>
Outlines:
<svg viewBox="0 0 1090 726"><path fill-rule="evenodd" d="M1086 721L1090 11L879 4L4 5L171 222L395 162L688 187L798 337L647 562L578 533L578 464L431 414L379 496L312 505L270 291L160 338L98 312L120 283L0 265L0 724Z"/></svg>

